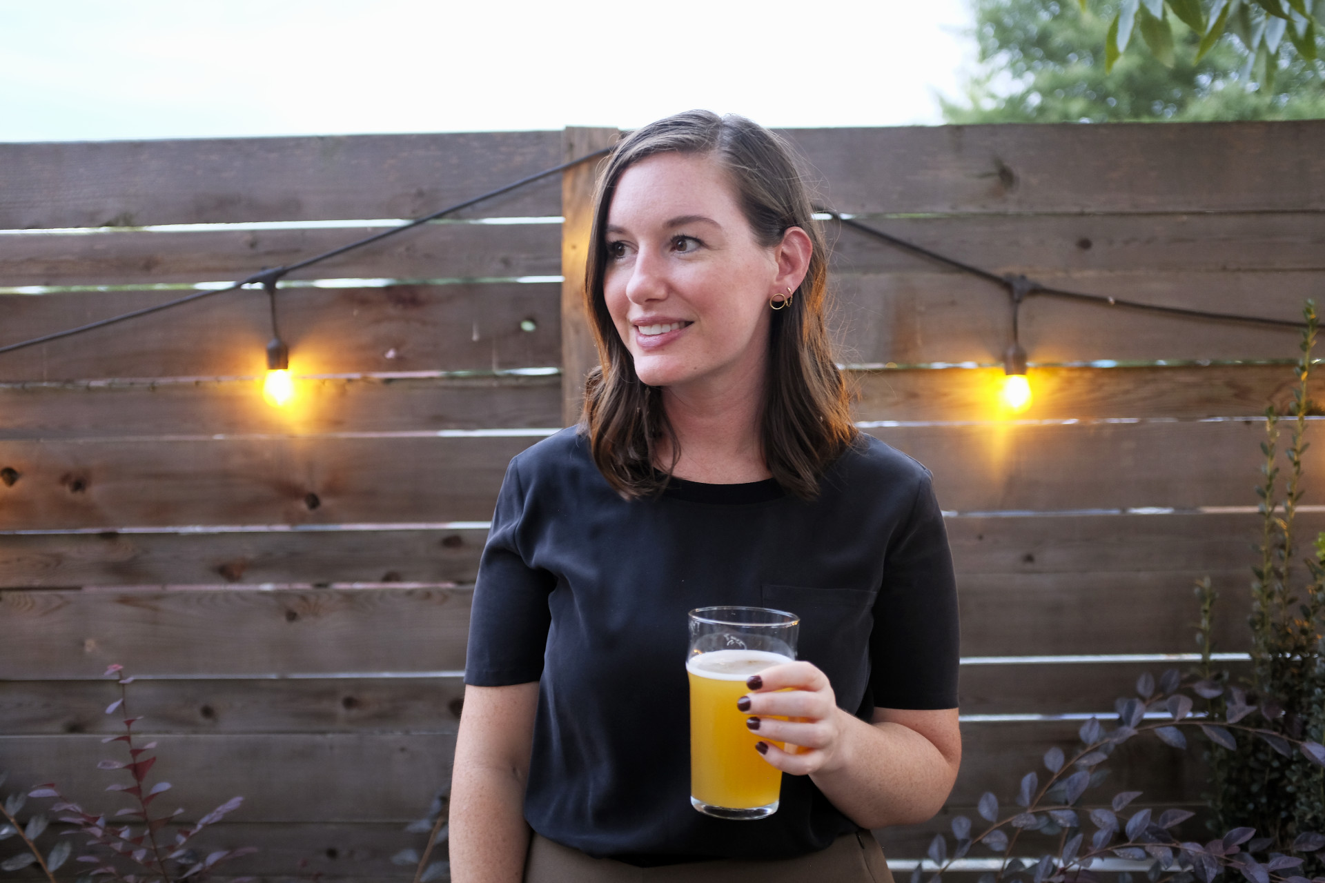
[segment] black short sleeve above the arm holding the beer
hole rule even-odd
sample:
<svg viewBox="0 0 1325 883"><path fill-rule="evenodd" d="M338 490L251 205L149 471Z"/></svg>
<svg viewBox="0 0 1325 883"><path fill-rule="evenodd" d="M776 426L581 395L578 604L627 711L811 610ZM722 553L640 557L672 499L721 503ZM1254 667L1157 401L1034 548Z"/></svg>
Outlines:
<svg viewBox="0 0 1325 883"><path fill-rule="evenodd" d="M893 535L871 633L876 708L955 708L957 580L943 514L924 473L906 523Z"/></svg>

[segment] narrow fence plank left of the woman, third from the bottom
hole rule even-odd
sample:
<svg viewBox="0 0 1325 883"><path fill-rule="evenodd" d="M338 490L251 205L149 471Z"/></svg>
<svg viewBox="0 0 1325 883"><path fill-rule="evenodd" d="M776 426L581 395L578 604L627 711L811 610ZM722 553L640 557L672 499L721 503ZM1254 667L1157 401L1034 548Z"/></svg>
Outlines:
<svg viewBox="0 0 1325 883"><path fill-rule="evenodd" d="M460 678L188 679L135 680L127 695L154 733L454 735L464 691ZM0 719L8 736L119 735L105 714L115 699L114 679L0 680Z"/></svg>

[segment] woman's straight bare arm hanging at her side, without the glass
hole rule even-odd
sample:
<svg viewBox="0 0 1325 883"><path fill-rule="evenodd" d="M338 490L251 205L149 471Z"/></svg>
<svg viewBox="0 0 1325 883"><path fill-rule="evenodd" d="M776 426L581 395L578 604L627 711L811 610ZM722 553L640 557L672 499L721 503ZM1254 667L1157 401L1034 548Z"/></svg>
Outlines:
<svg viewBox="0 0 1325 883"><path fill-rule="evenodd" d="M450 879L519 883L530 830L525 784L538 682L465 687L450 776Z"/></svg>

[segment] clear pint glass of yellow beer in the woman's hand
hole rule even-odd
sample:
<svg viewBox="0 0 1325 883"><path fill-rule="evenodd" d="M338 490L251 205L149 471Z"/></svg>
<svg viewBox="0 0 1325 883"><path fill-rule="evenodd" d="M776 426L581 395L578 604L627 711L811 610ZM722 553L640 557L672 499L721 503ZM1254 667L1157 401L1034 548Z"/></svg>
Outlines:
<svg viewBox="0 0 1325 883"><path fill-rule="evenodd" d="M782 770L755 751L737 700L746 678L796 658L794 613L765 608L690 610L690 805L708 815L765 818L778 812ZM778 743L774 743L778 744ZM782 745L778 744L780 748Z"/></svg>

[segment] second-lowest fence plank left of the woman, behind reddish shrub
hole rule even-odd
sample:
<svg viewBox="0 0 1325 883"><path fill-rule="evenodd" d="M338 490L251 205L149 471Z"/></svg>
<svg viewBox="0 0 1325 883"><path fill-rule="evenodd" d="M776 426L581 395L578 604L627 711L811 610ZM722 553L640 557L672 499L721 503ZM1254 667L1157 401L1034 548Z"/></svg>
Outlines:
<svg viewBox="0 0 1325 883"><path fill-rule="evenodd" d="M147 721L143 721L144 724ZM136 728L135 728L136 732ZM196 819L232 797L240 822L398 822L428 810L450 781L454 736L445 733L155 735L154 780L174 788L158 805L182 806ZM97 769L101 759L127 759L123 745L101 736L0 736L0 769L8 790L56 782L86 808L118 808L131 798L106 794L123 770Z"/></svg>

